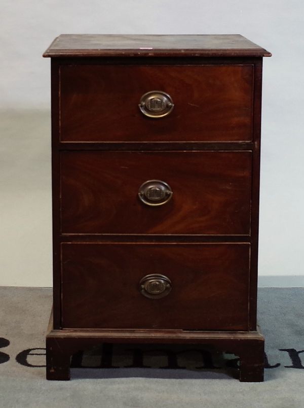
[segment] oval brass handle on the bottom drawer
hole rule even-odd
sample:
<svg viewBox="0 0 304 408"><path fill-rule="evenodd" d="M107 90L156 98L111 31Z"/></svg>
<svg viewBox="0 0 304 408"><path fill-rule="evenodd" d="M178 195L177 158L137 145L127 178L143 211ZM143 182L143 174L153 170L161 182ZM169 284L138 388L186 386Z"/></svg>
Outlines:
<svg viewBox="0 0 304 408"><path fill-rule="evenodd" d="M152 274L143 277L140 282L140 292L150 299L160 299L171 291L171 281L165 275Z"/></svg>

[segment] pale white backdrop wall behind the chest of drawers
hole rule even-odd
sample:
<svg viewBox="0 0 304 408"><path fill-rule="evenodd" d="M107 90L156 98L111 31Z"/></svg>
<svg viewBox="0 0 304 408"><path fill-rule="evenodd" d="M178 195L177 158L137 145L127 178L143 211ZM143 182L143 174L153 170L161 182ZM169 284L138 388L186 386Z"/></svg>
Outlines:
<svg viewBox="0 0 304 408"><path fill-rule="evenodd" d="M264 59L259 274L304 286L302 0L2 0L0 285L51 286L50 60L60 33L240 33Z"/></svg>

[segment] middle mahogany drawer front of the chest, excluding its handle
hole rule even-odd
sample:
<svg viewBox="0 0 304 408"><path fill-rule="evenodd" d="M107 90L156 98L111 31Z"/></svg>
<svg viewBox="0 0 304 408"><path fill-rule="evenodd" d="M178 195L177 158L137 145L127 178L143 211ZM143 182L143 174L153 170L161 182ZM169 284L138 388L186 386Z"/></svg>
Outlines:
<svg viewBox="0 0 304 408"><path fill-rule="evenodd" d="M150 180L167 183L160 206L139 199ZM251 152L61 153L62 233L250 233Z"/></svg>

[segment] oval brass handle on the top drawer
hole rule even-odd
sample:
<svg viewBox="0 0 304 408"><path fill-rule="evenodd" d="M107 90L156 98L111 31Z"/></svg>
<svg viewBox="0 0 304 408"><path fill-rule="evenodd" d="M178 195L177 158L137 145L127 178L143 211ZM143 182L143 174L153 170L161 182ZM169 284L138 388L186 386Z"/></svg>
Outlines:
<svg viewBox="0 0 304 408"><path fill-rule="evenodd" d="M169 115L174 108L171 96L163 91L150 91L142 95L139 109L149 118L163 118Z"/></svg>

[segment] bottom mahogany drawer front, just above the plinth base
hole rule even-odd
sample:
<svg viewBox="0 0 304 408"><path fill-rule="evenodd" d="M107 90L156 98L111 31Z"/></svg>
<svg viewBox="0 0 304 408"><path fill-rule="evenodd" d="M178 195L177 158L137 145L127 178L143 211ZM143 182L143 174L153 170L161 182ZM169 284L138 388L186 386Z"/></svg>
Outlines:
<svg viewBox="0 0 304 408"><path fill-rule="evenodd" d="M62 244L62 327L247 330L249 253L249 244ZM141 293L154 274L170 280L161 298L159 280L151 297Z"/></svg>

